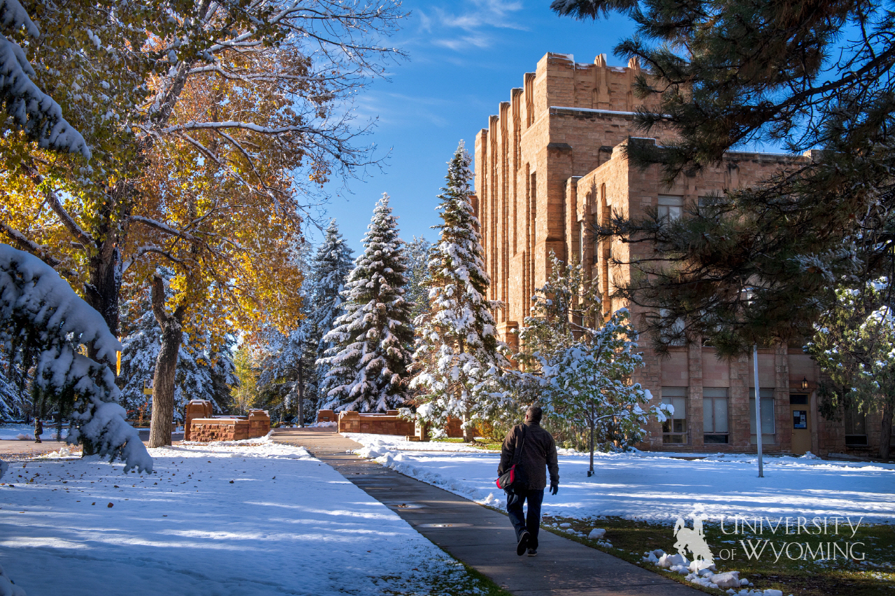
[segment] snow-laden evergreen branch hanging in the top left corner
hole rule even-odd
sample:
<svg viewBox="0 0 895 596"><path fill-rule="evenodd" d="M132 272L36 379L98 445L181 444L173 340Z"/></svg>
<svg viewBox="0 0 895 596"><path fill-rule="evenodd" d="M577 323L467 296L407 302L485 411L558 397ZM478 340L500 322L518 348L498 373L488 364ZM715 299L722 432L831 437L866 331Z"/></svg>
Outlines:
<svg viewBox="0 0 895 596"><path fill-rule="evenodd" d="M0 0L0 22L6 30L24 27L31 37L40 31L17 0ZM44 149L80 153L90 159L90 148L62 115L62 107L30 77L36 73L18 44L0 35L0 102L13 121Z"/></svg>

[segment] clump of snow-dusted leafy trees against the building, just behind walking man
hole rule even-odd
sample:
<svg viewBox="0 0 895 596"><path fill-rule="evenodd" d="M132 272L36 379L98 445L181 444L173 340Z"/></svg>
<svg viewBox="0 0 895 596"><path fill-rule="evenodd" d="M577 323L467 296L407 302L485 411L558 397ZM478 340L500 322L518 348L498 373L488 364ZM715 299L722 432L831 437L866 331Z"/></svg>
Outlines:
<svg viewBox="0 0 895 596"><path fill-rule="evenodd" d="M523 370L507 375L517 402L541 405L575 447L590 447L591 464L595 447L624 450L641 440L651 413L665 421L661 405L647 406L652 396L630 382L643 358L628 311L604 319L598 285L585 281L581 265L551 253L550 278L533 302L515 356Z"/></svg>

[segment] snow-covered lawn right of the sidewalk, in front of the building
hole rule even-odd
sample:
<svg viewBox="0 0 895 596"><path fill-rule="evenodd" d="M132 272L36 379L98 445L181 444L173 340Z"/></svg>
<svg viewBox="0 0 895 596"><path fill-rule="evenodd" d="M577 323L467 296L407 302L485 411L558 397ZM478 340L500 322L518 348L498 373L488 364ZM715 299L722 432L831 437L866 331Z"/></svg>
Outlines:
<svg viewBox="0 0 895 596"><path fill-rule="evenodd" d="M345 436L364 445L359 454L375 456L397 472L480 503L499 505L503 500L503 492L494 484L498 454L432 452L430 445L449 448L451 444L406 443L402 437L390 435ZM419 446L423 450L415 450ZM563 450L559 493L545 495L543 513L675 520L703 512L713 521L720 515L801 515L809 519L839 515L864 516L865 523L895 523L893 464L765 457L765 477L759 479L755 456L719 454L686 461L672 455L595 454L596 473L588 478L588 456Z"/></svg>

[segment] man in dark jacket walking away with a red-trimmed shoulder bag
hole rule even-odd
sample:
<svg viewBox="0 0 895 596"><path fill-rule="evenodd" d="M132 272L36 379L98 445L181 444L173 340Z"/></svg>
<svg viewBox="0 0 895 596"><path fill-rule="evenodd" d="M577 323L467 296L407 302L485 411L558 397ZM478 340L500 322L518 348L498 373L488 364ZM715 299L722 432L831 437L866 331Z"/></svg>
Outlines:
<svg viewBox="0 0 895 596"><path fill-rule="evenodd" d="M521 449L516 470L521 470L525 486L514 487L513 492L507 492L507 514L516 529L516 554L520 557L526 549L529 557L538 554L541 502L544 500L544 487L547 486L545 467L550 469L550 492L555 495L559 490L557 445L550 433L541 429L541 415L540 407L528 406L525 423L516 425L507 433L500 450L498 476L509 469L517 450ZM525 501L528 501L527 516L522 510Z"/></svg>

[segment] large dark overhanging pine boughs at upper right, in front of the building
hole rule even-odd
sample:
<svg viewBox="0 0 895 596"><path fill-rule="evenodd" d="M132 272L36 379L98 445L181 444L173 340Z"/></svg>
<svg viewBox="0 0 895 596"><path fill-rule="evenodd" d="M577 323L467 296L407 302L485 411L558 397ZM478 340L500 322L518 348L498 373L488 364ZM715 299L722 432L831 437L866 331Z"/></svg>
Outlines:
<svg viewBox="0 0 895 596"><path fill-rule="evenodd" d="M614 217L596 230L656 243L620 297L648 307L660 350L708 340L722 355L799 342L847 278L891 277L895 238L895 12L889 4L754 0L556 0L561 14L618 11L637 33L615 48L639 60L636 122L671 127L664 146L629 142L666 181L755 144L805 158L779 175L686 207L686 217ZM644 136L643 134L641 136ZM680 326L678 321L683 321Z"/></svg>

